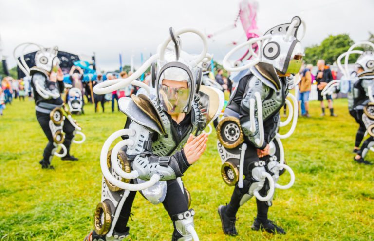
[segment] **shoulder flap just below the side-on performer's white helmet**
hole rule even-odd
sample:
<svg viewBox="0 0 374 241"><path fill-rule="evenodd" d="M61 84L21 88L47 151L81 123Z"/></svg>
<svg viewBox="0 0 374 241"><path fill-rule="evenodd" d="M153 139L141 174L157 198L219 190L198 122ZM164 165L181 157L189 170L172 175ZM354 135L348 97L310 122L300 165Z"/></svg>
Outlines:
<svg viewBox="0 0 374 241"><path fill-rule="evenodd" d="M275 71L273 65L260 62L251 67L251 72L266 86L274 89L275 91L281 90L281 80L278 78L277 72Z"/></svg>

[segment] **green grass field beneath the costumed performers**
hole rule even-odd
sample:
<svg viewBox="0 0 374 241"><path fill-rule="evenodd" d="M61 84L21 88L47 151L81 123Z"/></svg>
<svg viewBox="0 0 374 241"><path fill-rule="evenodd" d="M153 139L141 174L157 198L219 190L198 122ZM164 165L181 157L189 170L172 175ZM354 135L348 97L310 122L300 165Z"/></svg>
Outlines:
<svg viewBox="0 0 374 241"><path fill-rule="evenodd" d="M311 102L312 118L300 118L294 135L283 141L296 182L289 190L277 190L269 218L285 228L284 236L250 229L256 216L254 199L238 212L239 236L223 234L217 207L229 201L233 188L221 179L216 136L210 136L206 153L184 177L202 241L374 239L374 167L353 161L357 125L346 100L335 100L337 118L319 117L318 106ZM110 110L109 104L106 107ZM85 110L76 119L87 140L72 145L80 160L54 157L56 169L41 170L38 161L47 140L34 103L15 100L7 106L0 118L0 240L76 241L93 228L93 212L100 201L101 146L123 128L126 117L118 112L95 114L92 105ZM373 159L369 153L368 160ZM288 181L287 175L281 183ZM172 224L161 204L155 206L137 195L132 213L129 240L170 240Z"/></svg>

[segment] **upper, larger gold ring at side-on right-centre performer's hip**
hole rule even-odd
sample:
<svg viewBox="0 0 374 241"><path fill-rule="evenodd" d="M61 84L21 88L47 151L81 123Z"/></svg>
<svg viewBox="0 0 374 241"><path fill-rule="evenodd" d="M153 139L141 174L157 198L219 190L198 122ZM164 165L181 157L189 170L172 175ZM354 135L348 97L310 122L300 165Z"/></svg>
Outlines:
<svg viewBox="0 0 374 241"><path fill-rule="evenodd" d="M238 138L235 141L228 141L227 138L224 137L224 133L222 133L223 131L225 131L224 128L228 124L230 124L230 122L238 127L237 131L239 131L239 134L237 134ZM217 137L221 144L228 149L233 149L238 145L242 144L244 142L244 134L242 127L240 126L239 119L233 116L227 116L224 119L222 119L217 125Z"/></svg>

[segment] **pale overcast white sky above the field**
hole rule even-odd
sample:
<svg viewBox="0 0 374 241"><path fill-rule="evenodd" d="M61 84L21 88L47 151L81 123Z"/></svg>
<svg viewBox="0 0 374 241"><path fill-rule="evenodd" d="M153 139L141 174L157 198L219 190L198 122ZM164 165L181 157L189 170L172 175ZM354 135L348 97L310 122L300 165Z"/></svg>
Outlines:
<svg viewBox="0 0 374 241"><path fill-rule="evenodd" d="M374 32L374 0L258 0L257 23L260 33L289 22L299 15L307 24L304 46L320 43L329 34L348 33L354 41L367 40ZM96 53L102 70L119 68L118 54L135 67L140 53L145 58L174 29L195 27L206 34L233 22L239 0L0 0L0 35L3 54L13 67L12 52L22 42L91 55ZM243 42L238 27L209 40L209 53L220 62L232 46ZM182 39L183 40L183 39ZM189 41L190 40L190 41ZM196 39L183 41L183 48L200 52Z"/></svg>

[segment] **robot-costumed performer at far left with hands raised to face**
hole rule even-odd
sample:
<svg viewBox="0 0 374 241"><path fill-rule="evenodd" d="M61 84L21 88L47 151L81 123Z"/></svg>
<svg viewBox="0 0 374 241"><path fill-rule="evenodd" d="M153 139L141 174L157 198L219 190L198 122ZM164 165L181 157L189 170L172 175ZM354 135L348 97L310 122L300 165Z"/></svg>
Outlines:
<svg viewBox="0 0 374 241"><path fill-rule="evenodd" d="M32 45L37 46L39 50L35 54L35 66L29 68L24 59L24 53L25 49ZM16 50L21 46L23 53L20 56L21 61L19 61L16 57ZM13 52L19 68L26 76L31 77L37 121L48 138L43 159L39 163L42 168L49 169L54 168L51 165L54 155L61 157L64 161L77 161L77 158L70 155L70 145L72 141L82 143L85 140L84 134L79 132L81 127L71 117L69 110L62 107L64 102L61 99L61 93L65 87L57 52L57 47L44 48L35 43L20 44ZM75 134L80 134L83 139L74 141ZM59 146L61 150L56 152Z"/></svg>

